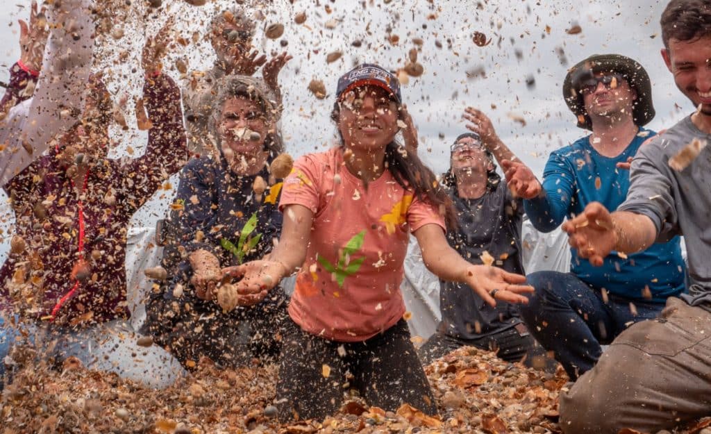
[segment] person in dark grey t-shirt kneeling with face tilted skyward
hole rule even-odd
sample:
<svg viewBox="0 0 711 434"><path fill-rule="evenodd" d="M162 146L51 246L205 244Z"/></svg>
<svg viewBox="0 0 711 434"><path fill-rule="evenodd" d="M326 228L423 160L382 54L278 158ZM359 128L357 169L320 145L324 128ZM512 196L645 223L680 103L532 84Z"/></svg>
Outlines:
<svg viewBox="0 0 711 434"><path fill-rule="evenodd" d="M459 228L447 232L449 245L471 263L488 262L523 274L523 206L496 173L494 154L476 132L459 135L450 151L443 182L456 207ZM492 307L464 283L440 280L440 285L442 322L419 348L424 364L465 345L496 351L506 361L545 364L518 307L507 302Z"/></svg>

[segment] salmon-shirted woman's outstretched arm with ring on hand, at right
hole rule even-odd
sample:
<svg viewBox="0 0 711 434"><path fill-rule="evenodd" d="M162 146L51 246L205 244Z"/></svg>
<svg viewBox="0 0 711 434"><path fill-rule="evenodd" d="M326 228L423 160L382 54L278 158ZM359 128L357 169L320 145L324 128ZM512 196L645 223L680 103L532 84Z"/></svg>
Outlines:
<svg viewBox="0 0 711 434"><path fill-rule="evenodd" d="M422 250L424 265L440 279L466 283L492 306L496 306L496 300L528 302L528 298L522 294L533 292L533 287L521 285L526 281L525 276L467 262L449 246L440 226L426 224L415 231L415 238Z"/></svg>

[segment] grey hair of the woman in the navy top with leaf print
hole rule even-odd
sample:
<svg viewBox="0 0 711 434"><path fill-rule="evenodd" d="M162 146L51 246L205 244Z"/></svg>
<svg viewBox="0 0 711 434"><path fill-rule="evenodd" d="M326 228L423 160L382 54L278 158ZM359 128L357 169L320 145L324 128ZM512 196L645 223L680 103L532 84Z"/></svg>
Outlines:
<svg viewBox="0 0 711 434"><path fill-rule="evenodd" d="M217 83L217 92L212 98L210 117L208 117L208 135L215 147L222 151L222 134L220 134L219 123L225 101L232 97L245 97L257 102L264 113L269 129L274 129L274 132L270 132L264 137L265 150L271 157L276 157L284 152L284 142L281 134L277 131L279 107L270 96L271 92L264 85L264 81L259 78L247 75L226 75L220 78Z"/></svg>

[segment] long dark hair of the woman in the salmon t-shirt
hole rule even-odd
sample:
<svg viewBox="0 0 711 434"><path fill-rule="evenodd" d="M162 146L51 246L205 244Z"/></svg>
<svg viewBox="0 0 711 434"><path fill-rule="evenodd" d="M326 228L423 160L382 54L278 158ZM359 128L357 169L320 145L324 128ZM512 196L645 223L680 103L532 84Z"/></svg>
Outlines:
<svg viewBox="0 0 711 434"><path fill-rule="evenodd" d="M338 115L341 113L341 105L338 102L333 104L331 120L338 123ZM343 143L343 134L338 129ZM420 201L438 207L440 213L444 214L444 221L447 228L456 229L459 226L456 218L456 209L449 194L444 190L434 176L432 170L422 163L416 152L410 152L404 146L393 140L385 147L385 169L390 171L397 184L403 189L412 189L415 196Z"/></svg>

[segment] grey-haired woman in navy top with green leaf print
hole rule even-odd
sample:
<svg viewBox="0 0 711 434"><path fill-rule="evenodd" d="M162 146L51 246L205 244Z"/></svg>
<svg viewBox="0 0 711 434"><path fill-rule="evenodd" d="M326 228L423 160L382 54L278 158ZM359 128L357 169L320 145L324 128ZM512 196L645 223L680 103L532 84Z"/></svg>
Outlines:
<svg viewBox="0 0 711 434"><path fill-rule="evenodd" d="M220 158L193 159L181 172L177 247L166 246L163 258L172 278L151 296L144 328L188 368L203 356L220 366L277 356L286 312L281 288L254 306L225 307L215 296L220 268L262 258L282 228L282 183L266 184L267 163L282 152L277 100L257 78L230 75L216 84L208 127Z"/></svg>

